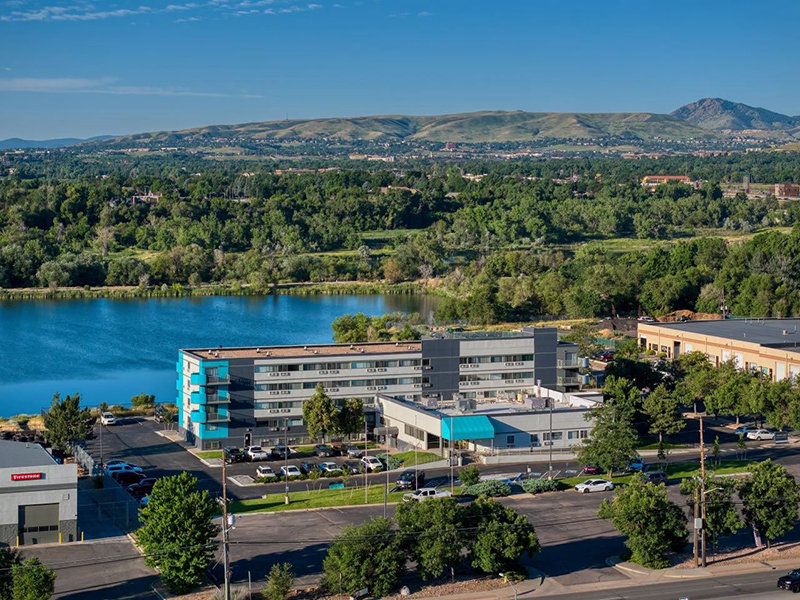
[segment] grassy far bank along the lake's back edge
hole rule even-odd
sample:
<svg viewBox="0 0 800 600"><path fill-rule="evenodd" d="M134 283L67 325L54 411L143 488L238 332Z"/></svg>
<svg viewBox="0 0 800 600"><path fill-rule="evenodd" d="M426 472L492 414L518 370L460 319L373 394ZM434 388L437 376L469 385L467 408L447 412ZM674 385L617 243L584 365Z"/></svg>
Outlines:
<svg viewBox="0 0 800 600"><path fill-rule="evenodd" d="M343 295L427 295L434 291L422 282L388 283L385 281L329 281L278 283L268 288L249 284L216 284L199 287L171 286L97 286L63 288L0 288L0 301L90 300L98 298L186 298L209 296L343 296Z"/></svg>

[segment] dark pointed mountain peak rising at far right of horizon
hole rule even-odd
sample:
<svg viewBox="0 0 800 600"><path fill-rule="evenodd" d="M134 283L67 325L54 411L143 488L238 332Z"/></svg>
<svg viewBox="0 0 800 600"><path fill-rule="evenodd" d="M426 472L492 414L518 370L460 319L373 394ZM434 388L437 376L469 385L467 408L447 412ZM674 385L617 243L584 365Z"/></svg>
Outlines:
<svg viewBox="0 0 800 600"><path fill-rule="evenodd" d="M800 127L800 120L797 117L723 98L702 98L681 106L670 114L692 125L714 131L746 129L790 131Z"/></svg>

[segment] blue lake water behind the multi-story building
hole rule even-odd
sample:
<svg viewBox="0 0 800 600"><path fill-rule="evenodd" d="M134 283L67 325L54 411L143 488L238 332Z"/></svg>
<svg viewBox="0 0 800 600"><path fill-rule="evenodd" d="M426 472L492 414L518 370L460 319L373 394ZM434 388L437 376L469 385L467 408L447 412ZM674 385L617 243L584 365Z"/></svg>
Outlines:
<svg viewBox="0 0 800 600"><path fill-rule="evenodd" d="M418 296L0 302L0 416L38 413L56 392L88 406L142 392L173 402L179 348L330 342L343 314L431 310Z"/></svg>

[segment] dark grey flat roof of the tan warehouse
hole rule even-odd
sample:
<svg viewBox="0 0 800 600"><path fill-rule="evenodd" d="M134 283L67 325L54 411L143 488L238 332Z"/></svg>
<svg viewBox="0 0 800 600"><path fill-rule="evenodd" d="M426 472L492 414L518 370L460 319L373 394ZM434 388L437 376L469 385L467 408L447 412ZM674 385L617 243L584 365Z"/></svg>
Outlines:
<svg viewBox="0 0 800 600"><path fill-rule="evenodd" d="M800 319L720 319L680 323L642 323L649 327L720 337L763 346L800 347Z"/></svg>

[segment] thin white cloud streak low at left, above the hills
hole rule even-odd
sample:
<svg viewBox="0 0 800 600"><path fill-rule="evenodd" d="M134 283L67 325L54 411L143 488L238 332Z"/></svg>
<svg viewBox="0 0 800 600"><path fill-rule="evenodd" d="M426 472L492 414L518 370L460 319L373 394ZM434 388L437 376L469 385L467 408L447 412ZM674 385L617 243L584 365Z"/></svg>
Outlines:
<svg viewBox="0 0 800 600"><path fill-rule="evenodd" d="M181 88L119 85L113 77L0 78L0 93L111 94L118 96L195 96L203 98L261 98L257 94L204 92Z"/></svg>

